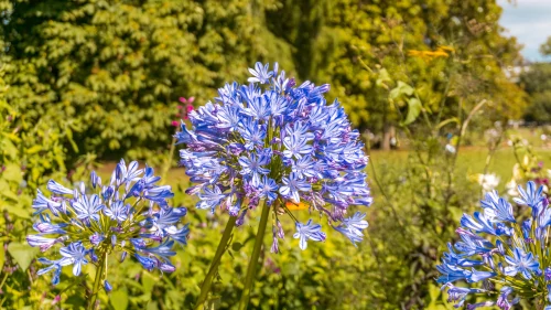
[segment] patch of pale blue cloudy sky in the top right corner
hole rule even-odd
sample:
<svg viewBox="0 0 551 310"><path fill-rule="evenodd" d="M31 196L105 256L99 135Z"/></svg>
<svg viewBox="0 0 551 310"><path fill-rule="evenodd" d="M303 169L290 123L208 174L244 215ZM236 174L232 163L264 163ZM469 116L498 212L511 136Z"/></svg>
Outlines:
<svg viewBox="0 0 551 310"><path fill-rule="evenodd" d="M517 36L525 45L522 56L531 62L551 62L551 57L543 57L539 52L540 45L551 36L551 0L517 0L516 4L507 0L497 2L504 8L499 22L507 29L506 34Z"/></svg>

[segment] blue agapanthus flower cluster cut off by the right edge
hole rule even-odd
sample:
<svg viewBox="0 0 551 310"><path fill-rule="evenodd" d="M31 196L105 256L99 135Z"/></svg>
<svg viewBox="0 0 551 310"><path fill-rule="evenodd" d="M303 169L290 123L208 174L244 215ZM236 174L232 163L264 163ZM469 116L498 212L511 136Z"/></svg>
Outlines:
<svg viewBox="0 0 551 310"><path fill-rule="evenodd" d="M468 295L484 295L491 300L467 304L467 309L497 306L511 309L520 299L542 309L551 309L551 255L548 244L551 207L542 188L528 182L518 188L514 207L496 191L482 201L484 212L464 214L457 228L461 240L449 244L436 268L449 301L456 308ZM517 209L517 215L514 210ZM456 287L452 282L482 282L478 288Z"/></svg>

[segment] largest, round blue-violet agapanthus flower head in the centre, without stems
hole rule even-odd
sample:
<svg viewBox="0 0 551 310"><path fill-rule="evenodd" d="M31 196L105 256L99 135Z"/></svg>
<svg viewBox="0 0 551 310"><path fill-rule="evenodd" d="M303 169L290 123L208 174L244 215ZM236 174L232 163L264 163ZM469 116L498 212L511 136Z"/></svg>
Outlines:
<svg viewBox="0 0 551 310"><path fill-rule="evenodd" d="M198 209L216 207L239 216L260 203L272 207L274 244L282 236L279 216L289 205L301 205L326 215L328 224L353 243L363 238L365 215L350 206L368 206L371 195L366 183L368 158L359 132L352 129L341 104L327 104L329 85L305 82L295 85L283 71L257 63L248 85L226 84L214 103L190 114L191 128L182 124L177 142L181 163L198 196ZM324 240L322 226L296 223L300 247Z"/></svg>

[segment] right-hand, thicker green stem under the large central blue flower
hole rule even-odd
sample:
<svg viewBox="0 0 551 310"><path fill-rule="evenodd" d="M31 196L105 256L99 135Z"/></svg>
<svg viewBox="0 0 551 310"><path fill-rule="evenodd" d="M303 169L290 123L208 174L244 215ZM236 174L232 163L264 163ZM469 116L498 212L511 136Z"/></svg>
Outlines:
<svg viewBox="0 0 551 310"><path fill-rule="evenodd" d="M249 304L250 291L252 288L252 284L255 282L255 276L257 274L258 257L260 256L260 249L262 248L266 225L268 224L270 206L264 204L264 206L262 207L260 224L258 225L257 237L255 238L255 247L252 248L252 255L249 260L249 267L247 267L247 277L245 278L245 287L241 293L241 300L239 301L239 310L246 310L247 306Z"/></svg>

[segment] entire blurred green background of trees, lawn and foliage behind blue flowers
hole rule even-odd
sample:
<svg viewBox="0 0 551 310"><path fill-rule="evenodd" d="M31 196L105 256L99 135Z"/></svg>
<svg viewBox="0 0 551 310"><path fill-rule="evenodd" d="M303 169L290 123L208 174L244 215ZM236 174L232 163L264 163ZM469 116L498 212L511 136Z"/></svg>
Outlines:
<svg viewBox="0 0 551 310"><path fill-rule="evenodd" d="M115 290L101 307L190 309L227 218L195 210L183 192L171 148L180 98L203 105L261 61L299 83L331 84L327 100L342 101L366 141L375 203L357 248L327 232L301 252L287 223L282 254L262 250L250 308L453 309L434 266L461 214L477 206L477 174L495 173L500 191L549 178L551 65L522 58L500 3L0 0L0 308L84 307L86 276L64 274L57 287L36 276L24 242L31 202L50 178L106 177L125 158L168 175L192 233L171 275L111 259ZM216 309L240 296L259 215L250 216L223 259Z"/></svg>

